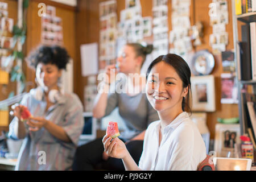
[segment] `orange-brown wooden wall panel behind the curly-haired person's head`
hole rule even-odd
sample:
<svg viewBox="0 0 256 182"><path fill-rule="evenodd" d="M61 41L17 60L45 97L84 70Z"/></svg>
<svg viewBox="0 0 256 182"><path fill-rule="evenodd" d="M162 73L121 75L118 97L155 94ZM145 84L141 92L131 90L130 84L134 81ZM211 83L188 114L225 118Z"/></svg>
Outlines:
<svg viewBox="0 0 256 182"><path fill-rule="evenodd" d="M76 59L76 36L75 36L75 10L73 7L65 6L60 3L52 1L38 1L32 0L28 6L27 12L27 40L26 40L26 55L36 49L40 45L41 39L41 17L38 16L38 4L45 3L56 7L56 16L62 19L63 26L63 42L64 47L67 49L69 55L74 61L74 65L77 65ZM74 74L75 72L74 66ZM27 81L30 85L27 87L27 91L35 87L35 71L31 68L26 69ZM74 77L75 82L75 77Z"/></svg>

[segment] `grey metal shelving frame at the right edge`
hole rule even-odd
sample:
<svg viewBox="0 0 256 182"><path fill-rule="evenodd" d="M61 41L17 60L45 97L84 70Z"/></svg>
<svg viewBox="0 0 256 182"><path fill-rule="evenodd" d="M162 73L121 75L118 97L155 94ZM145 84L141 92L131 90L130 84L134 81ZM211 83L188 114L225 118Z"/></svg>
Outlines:
<svg viewBox="0 0 256 182"><path fill-rule="evenodd" d="M253 86L254 92L256 91L256 80L239 80L238 73L240 71L240 67L238 67L238 54L240 53L237 48L238 40L238 24L237 22L243 22L249 24L250 22L256 22L256 12L245 13L242 15L236 15L236 8L235 8L235 1L232 1L232 17L233 17L233 40L234 40L234 50L235 50L235 61L236 61L236 81L238 87L238 110L239 110L239 117L240 117L240 126L241 126L241 135L247 133L246 126L245 126L245 117L246 117L246 110L243 107L243 98L242 98L242 89L243 85L251 85ZM243 32L241 32L243 34Z"/></svg>

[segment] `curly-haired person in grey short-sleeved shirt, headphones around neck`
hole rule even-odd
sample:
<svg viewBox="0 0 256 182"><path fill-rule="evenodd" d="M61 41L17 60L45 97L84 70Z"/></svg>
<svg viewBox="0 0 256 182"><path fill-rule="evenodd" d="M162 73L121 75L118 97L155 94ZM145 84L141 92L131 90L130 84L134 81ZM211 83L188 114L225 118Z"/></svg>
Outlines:
<svg viewBox="0 0 256 182"><path fill-rule="evenodd" d="M58 86L68 60L67 51L59 46L41 46L28 57L39 86L15 107L10 123L9 137L24 139L16 170L71 169L84 122L79 97L61 93ZM21 118L24 107L32 115L26 121Z"/></svg>

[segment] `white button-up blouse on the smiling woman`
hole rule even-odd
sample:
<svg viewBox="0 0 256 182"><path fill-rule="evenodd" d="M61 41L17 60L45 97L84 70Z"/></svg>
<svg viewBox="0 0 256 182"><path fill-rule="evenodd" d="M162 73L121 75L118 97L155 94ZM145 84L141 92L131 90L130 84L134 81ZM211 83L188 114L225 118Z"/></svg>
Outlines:
<svg viewBox="0 0 256 182"><path fill-rule="evenodd" d="M204 140L187 112L164 127L160 145L159 132L160 121L152 122L146 130L139 160L142 170L196 170L206 158Z"/></svg>

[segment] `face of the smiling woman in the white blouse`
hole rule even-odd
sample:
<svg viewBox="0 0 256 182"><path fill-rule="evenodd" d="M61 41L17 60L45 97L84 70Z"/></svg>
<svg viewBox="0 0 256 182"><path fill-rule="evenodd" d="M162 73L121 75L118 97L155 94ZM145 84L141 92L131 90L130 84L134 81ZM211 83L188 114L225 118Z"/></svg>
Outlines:
<svg viewBox="0 0 256 182"><path fill-rule="evenodd" d="M183 88L183 82L174 67L160 61L152 67L146 84L148 101L155 110L182 112L181 103L187 96L188 87Z"/></svg>

